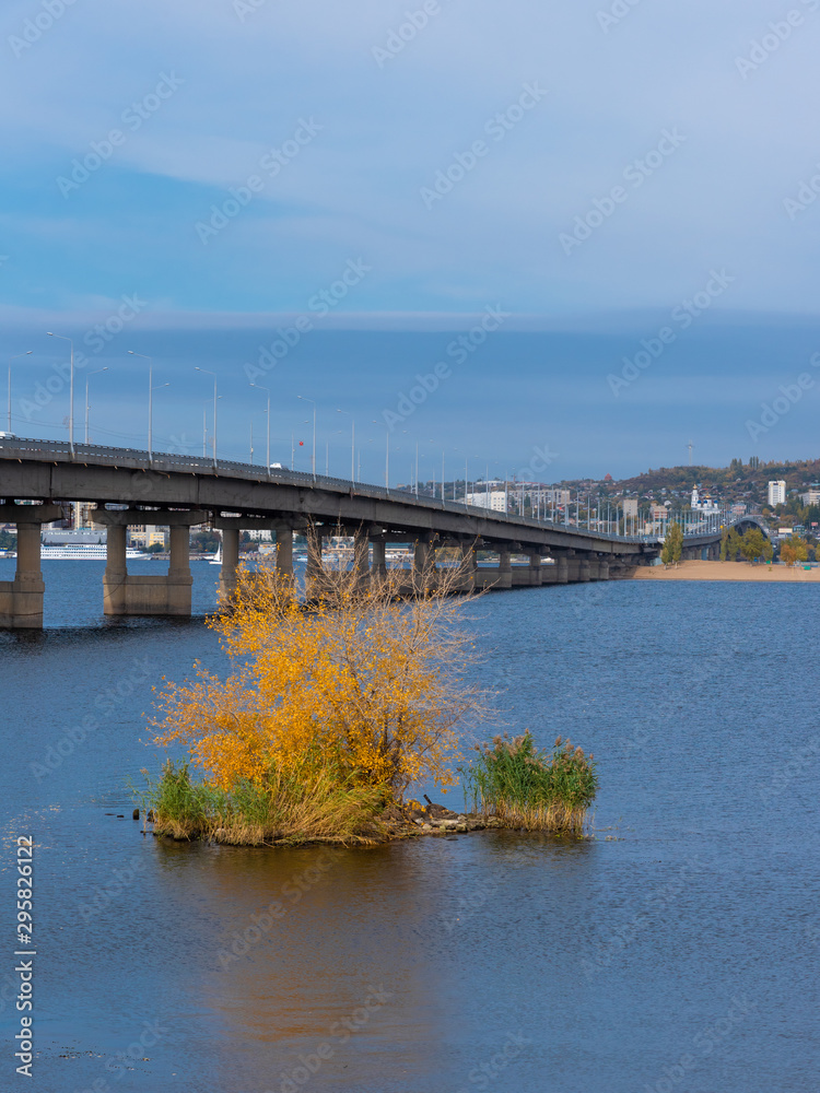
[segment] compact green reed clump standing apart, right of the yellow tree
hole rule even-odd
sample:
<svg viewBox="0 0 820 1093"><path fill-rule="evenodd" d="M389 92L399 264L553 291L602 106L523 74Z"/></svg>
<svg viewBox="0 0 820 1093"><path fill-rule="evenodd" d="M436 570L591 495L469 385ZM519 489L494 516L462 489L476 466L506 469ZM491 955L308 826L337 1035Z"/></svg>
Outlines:
<svg viewBox="0 0 820 1093"><path fill-rule="evenodd" d="M552 754L539 752L529 732L479 744L475 763L464 769L473 809L504 826L582 834L598 778L591 754L558 738Z"/></svg>

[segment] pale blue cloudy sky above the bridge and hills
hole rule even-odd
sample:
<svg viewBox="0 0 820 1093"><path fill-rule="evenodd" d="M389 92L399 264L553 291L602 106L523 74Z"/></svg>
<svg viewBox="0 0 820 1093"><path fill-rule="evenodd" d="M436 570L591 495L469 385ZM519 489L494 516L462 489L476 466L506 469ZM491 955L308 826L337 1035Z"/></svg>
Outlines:
<svg viewBox="0 0 820 1093"><path fill-rule="evenodd" d="M311 443L296 395L338 473L353 411L370 479L390 426L401 480L417 442L544 480L683 461L690 438L710 462L818 454L820 0L25 0L0 37L3 352L34 351L15 432L66 435L58 380L35 397L54 329L89 359L80 432L107 367L93 438L144 444L132 349L171 385L157 444L201 448L200 364L243 457L266 427L248 368L303 317L265 372L282 461Z"/></svg>

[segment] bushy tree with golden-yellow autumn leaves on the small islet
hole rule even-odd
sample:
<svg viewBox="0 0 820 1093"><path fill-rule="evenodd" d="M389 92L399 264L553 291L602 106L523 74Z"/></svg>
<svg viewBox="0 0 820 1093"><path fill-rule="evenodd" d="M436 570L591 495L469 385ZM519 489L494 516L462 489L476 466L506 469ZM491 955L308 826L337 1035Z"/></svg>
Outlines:
<svg viewBox="0 0 820 1093"><path fill-rule="evenodd" d="M459 757L455 726L481 712L465 680L475 650L464 600L450 595L459 575L440 571L433 591L408 598L398 584L408 574L363 584L328 573L305 604L276 571L241 569L231 602L210 620L234 669L220 679L198 665L194 681L166 684L155 741L187 744L226 790L318 768L398 798L419 778L446 788Z"/></svg>

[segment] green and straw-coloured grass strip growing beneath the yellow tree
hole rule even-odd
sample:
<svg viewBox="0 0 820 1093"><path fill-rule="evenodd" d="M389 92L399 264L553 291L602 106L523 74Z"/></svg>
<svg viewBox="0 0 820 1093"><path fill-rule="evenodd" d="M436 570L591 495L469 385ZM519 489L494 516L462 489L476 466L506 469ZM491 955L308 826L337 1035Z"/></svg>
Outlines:
<svg viewBox="0 0 820 1093"><path fill-rule="evenodd" d="M147 777L139 798L157 835L270 846L373 843L384 834L376 818L385 789L340 781L328 768L298 779L274 771L262 785L241 781L230 790L191 780L187 763L167 762L159 780Z"/></svg>

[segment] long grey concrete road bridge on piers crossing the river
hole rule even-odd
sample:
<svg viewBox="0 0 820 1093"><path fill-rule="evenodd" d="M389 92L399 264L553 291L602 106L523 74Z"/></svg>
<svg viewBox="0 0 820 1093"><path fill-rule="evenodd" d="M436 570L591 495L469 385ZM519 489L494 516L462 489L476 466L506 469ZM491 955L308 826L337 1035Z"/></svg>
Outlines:
<svg viewBox="0 0 820 1093"><path fill-rule="evenodd" d="M202 524L222 532L223 595L236 583L244 530L274 532L276 565L289 575L293 534L307 529L308 574L321 568L323 538L340 533L353 537L363 575L386 571L390 542L414 544L419 573L431 572L437 549L455 548L464 590L629 577L661 548L658 537L618 536L301 471L7 437L0 440L0 522L16 526L17 564L14 579L0 581L0 628L42 627L42 526L61 519L68 502L94 503L95 524L107 528L106 615L190 615L190 528ZM749 520L759 522L745 517L738 524ZM169 528L167 574L128 573L131 525ZM719 528L695 526L684 537L683 557L717 557L719 540ZM479 550L495 553L497 565L479 568ZM528 565L513 566L516 554ZM543 565L544 557L553 564Z"/></svg>

